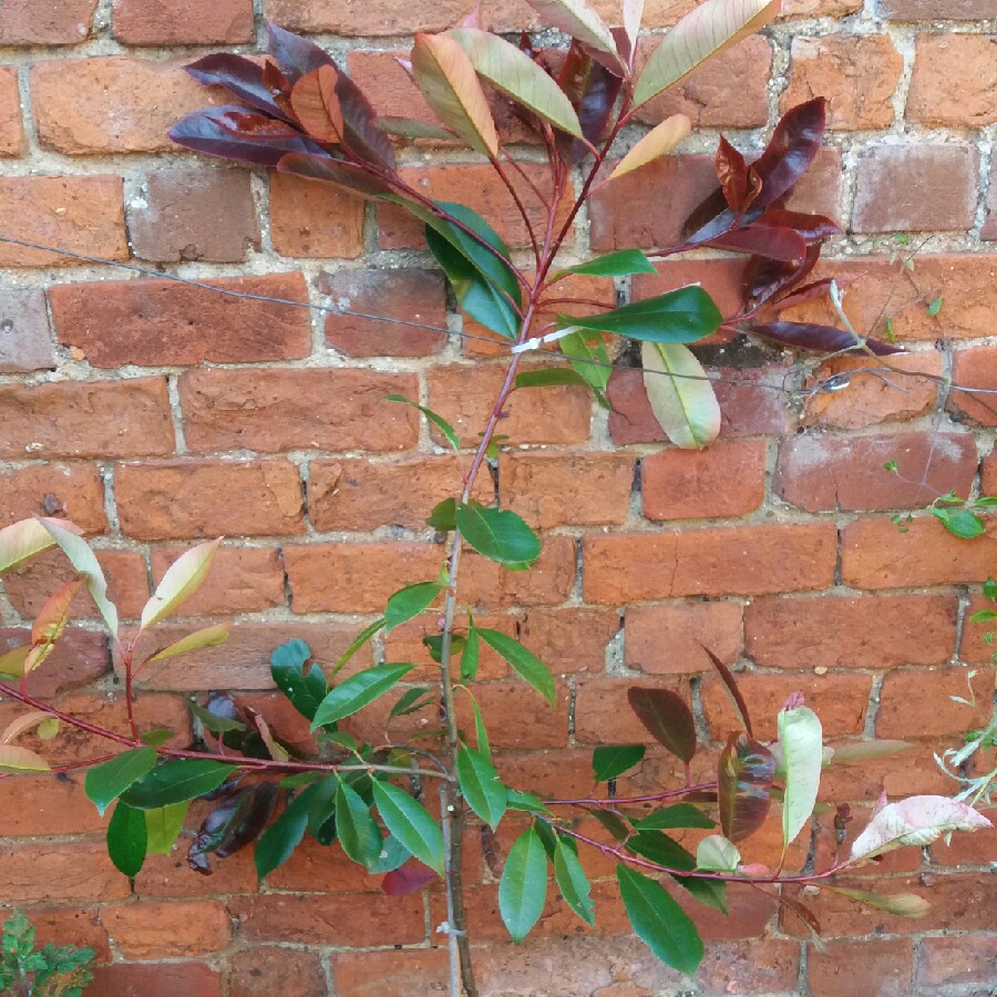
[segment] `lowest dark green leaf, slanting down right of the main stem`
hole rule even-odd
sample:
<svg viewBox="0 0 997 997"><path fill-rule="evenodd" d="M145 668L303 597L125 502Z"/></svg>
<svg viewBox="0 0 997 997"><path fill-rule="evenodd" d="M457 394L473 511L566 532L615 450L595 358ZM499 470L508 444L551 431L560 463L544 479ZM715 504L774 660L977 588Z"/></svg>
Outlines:
<svg viewBox="0 0 997 997"><path fill-rule="evenodd" d="M686 912L655 880L616 866L619 895L634 932L667 966L692 977L702 962L702 939Z"/></svg>

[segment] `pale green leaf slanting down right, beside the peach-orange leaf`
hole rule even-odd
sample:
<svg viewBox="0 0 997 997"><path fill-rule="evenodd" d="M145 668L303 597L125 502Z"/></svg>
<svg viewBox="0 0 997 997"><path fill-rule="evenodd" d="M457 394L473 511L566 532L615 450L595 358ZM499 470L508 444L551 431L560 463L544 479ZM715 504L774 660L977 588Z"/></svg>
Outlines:
<svg viewBox="0 0 997 997"><path fill-rule="evenodd" d="M528 55L497 34L475 28L454 28L448 35L496 90L563 132L582 137L582 125L567 96Z"/></svg>

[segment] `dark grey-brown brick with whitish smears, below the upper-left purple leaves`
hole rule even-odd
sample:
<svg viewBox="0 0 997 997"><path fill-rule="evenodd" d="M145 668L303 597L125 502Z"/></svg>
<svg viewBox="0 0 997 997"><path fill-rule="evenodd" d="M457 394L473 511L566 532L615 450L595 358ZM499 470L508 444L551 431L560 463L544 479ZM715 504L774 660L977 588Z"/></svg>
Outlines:
<svg viewBox="0 0 997 997"><path fill-rule="evenodd" d="M135 256L156 263L238 263L259 248L259 224L246 169L171 167L145 179L129 208Z"/></svg>

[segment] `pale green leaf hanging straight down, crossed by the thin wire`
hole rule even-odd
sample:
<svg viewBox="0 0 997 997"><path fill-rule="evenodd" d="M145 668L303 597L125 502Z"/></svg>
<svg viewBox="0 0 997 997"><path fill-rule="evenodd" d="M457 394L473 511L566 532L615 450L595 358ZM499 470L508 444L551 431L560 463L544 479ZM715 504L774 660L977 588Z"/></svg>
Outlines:
<svg viewBox="0 0 997 997"><path fill-rule="evenodd" d="M720 435L720 403L696 356L680 342L640 349L644 387L655 419L676 446L702 450Z"/></svg>

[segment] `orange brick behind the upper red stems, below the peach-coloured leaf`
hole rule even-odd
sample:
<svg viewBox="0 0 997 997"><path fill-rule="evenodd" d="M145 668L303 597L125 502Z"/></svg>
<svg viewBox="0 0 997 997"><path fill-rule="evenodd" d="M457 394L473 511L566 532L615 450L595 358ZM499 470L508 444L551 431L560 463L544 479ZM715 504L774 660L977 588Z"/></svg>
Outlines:
<svg viewBox="0 0 997 997"><path fill-rule="evenodd" d="M548 196L551 177L546 167L526 163L523 168ZM400 173L402 179L423 196L455 201L483 215L510 246L530 245L530 236L515 202L491 166L408 166L402 167ZM532 227L542 235L547 223L546 209L517 174L511 174L511 179L527 209ZM568 184L568 192L556 215L558 230L567 220L572 196ZM397 205L378 207L378 228L381 249L421 248L425 245L423 223Z"/></svg>

